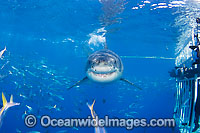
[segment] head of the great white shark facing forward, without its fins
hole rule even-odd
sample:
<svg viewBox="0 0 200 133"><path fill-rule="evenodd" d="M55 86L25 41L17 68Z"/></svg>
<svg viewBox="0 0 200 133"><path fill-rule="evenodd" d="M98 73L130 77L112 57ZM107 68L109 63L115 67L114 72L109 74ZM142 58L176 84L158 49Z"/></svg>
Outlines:
<svg viewBox="0 0 200 133"><path fill-rule="evenodd" d="M114 52L103 49L91 54L86 65L87 77L95 82L108 83L122 76L123 64Z"/></svg>

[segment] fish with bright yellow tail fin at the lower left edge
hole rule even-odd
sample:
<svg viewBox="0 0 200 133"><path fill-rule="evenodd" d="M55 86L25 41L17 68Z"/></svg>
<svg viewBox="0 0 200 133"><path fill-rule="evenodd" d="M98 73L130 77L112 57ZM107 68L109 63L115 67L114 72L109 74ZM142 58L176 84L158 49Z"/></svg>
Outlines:
<svg viewBox="0 0 200 133"><path fill-rule="evenodd" d="M2 92L2 101L3 101L3 107L0 109L0 127L2 125L2 120L3 120L3 117L5 116L6 114L6 111L10 108L10 107L13 107L13 106L16 106L16 105L20 105L20 103L15 103L13 102L13 95L11 95L10 97L10 102L8 103L3 92Z"/></svg>

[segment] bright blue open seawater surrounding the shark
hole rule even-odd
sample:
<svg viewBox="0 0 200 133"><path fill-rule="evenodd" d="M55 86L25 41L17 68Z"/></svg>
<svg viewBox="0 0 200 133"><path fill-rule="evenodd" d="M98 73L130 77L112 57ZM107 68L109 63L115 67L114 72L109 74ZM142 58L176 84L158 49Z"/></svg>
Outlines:
<svg viewBox="0 0 200 133"><path fill-rule="evenodd" d="M193 2L191 6L187 1L168 0L0 1L0 49L7 47L0 61L0 66L7 62L1 69L0 88L7 98L13 94L14 101L21 103L8 110L0 132L94 132L93 127L44 128L38 122L28 128L24 124L25 111L38 118L87 118L86 102L94 99L101 118L172 118L176 88L168 71L198 15L198 1ZM88 81L68 91L85 76L87 56L102 49L105 41L123 56L123 77L143 90L121 81L106 85ZM106 130L172 132L169 127Z"/></svg>

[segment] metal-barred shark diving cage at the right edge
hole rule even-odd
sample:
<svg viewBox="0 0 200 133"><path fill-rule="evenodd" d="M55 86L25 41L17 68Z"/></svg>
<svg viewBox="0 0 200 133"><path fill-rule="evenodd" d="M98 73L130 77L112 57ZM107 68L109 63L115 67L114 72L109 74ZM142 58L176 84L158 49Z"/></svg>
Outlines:
<svg viewBox="0 0 200 133"><path fill-rule="evenodd" d="M175 59L170 76L176 79L176 105L173 117L181 133L200 132L200 18L191 37Z"/></svg>

